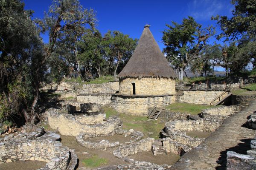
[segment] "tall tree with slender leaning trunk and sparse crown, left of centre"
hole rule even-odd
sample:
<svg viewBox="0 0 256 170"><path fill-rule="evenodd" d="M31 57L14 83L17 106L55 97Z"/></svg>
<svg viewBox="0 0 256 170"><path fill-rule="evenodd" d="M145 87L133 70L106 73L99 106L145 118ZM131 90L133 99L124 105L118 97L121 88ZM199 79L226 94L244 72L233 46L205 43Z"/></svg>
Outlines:
<svg viewBox="0 0 256 170"><path fill-rule="evenodd" d="M84 9L80 5L79 0L53 0L52 5L49 7L49 11L45 13L44 19L36 20L42 33L49 34L49 42L47 48L45 48L44 59L39 63L40 66L35 70L37 76L37 79L35 80L36 95L32 104L32 113L34 112L38 101L41 79L39 72L58 47L57 44L61 40L61 37L75 35L76 38L73 40L73 44L75 44L76 40L84 33L86 29L85 27L89 25L89 27L93 29L95 22L96 18L93 9ZM76 50L74 50L74 52L76 52Z"/></svg>

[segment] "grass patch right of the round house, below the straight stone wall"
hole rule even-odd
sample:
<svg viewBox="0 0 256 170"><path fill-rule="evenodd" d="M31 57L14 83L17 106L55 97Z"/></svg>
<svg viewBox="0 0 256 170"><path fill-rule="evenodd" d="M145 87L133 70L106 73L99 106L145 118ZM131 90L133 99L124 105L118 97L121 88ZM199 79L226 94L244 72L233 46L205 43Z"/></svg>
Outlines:
<svg viewBox="0 0 256 170"><path fill-rule="evenodd" d="M201 113L202 109L212 108L209 105L197 105L190 103L173 103L171 105L166 106L166 109L173 112L180 113L190 113L190 114L198 114Z"/></svg>

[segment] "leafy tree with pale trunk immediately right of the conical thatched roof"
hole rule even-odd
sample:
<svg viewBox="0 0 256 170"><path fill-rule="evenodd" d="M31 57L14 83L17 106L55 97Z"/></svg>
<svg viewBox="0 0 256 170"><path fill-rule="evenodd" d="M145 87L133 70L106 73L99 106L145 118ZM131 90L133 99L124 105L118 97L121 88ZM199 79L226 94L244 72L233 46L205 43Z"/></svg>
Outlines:
<svg viewBox="0 0 256 170"><path fill-rule="evenodd" d="M179 70L179 79L183 79L185 68L197 58L209 37L215 34L212 26L202 28L193 17L184 18L181 24L172 22L166 25L162 40L166 45L163 51L167 58Z"/></svg>

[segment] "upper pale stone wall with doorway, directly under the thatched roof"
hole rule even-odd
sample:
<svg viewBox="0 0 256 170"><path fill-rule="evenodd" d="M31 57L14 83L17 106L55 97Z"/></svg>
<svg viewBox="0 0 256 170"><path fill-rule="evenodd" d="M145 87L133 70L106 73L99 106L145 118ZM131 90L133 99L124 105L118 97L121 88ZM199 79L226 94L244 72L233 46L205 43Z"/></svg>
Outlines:
<svg viewBox="0 0 256 170"><path fill-rule="evenodd" d="M166 78L119 79L119 93L132 95L132 83L135 83L136 95L175 94L175 80Z"/></svg>

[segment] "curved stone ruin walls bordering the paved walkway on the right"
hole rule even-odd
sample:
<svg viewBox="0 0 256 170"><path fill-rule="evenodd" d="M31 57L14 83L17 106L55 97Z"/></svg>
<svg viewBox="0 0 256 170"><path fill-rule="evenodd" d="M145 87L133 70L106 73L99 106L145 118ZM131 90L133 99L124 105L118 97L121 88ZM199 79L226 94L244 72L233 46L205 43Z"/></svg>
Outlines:
<svg viewBox="0 0 256 170"><path fill-rule="evenodd" d="M197 136L191 137L188 136L187 133L191 131L212 133L222 124L227 116L230 116L240 110L241 108L239 106L220 106L205 109L200 115L203 118L198 117L194 120L182 119L166 122L161 134L163 137L166 137L173 142L177 142L180 145L186 146L191 150L204 142L205 138ZM196 116L192 117L195 118Z"/></svg>

